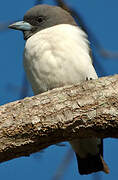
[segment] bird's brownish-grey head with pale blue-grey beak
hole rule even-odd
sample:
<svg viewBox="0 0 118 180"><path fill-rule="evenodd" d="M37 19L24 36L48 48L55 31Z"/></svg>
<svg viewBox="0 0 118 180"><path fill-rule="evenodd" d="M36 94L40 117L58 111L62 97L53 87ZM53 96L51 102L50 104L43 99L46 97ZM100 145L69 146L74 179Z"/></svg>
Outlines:
<svg viewBox="0 0 118 180"><path fill-rule="evenodd" d="M59 24L76 25L72 16L62 8L37 5L26 12L23 21L9 25L9 28L23 31L24 39L27 40L38 31Z"/></svg>

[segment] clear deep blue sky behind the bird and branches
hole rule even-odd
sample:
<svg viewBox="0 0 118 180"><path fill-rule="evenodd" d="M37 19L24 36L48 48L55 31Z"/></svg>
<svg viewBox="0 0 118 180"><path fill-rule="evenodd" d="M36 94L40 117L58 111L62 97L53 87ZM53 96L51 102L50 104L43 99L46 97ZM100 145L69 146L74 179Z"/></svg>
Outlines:
<svg viewBox="0 0 118 180"><path fill-rule="evenodd" d="M52 4L52 1L44 1ZM86 25L95 34L101 45L113 52L118 51L118 0L69 0L65 1L81 13ZM25 12L34 6L34 0L3 1L0 2L0 22L12 22L22 19ZM5 104L21 98L24 86L23 49L25 41L21 32L5 30L0 32L0 104ZM101 57L95 50L95 67L99 76L118 73L118 58L108 59ZM32 95L28 85L27 96ZM110 174L100 174L102 179L110 180L117 177L117 139L105 139L105 161L110 167ZM40 154L30 157L21 157L0 164L0 178L4 180L46 179L51 180L56 169L68 152L69 145L65 147L51 146ZM91 176L80 176L77 172L75 156L62 179L91 179Z"/></svg>

